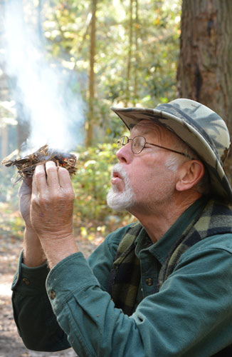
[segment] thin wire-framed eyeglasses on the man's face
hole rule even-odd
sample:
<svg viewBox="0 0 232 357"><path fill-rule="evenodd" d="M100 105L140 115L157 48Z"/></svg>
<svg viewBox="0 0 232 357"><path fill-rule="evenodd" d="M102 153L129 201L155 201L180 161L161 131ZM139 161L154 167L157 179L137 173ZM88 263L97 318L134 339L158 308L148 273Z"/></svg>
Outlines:
<svg viewBox="0 0 232 357"><path fill-rule="evenodd" d="M133 154L141 153L141 151L144 149L145 145L149 144L152 146L157 146L157 148L160 148L160 149L165 149L168 151L172 151L173 153L186 156L189 159L193 160L193 158L191 156L189 156L188 154L184 154L184 153L181 153L180 151L169 149L164 146L157 145L157 144L148 143L146 141L146 139L144 138L144 136L135 136L134 139L129 139L128 136L125 136L125 135L121 136L121 138L118 139L118 141L117 141L117 147L120 149L120 148L122 148L122 146L127 145L129 143L129 141L131 141L131 149L132 149Z"/></svg>

